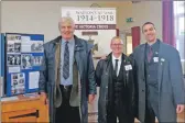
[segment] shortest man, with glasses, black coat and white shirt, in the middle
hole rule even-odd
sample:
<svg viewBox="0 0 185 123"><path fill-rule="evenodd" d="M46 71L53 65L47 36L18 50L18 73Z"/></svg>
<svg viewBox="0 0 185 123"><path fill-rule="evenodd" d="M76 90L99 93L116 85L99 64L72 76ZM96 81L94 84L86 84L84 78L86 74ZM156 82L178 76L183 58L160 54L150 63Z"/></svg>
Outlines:
<svg viewBox="0 0 185 123"><path fill-rule="evenodd" d="M122 53L123 42L111 40L112 52L98 62L96 82L100 87L98 100L98 123L134 122L134 83L131 62Z"/></svg>

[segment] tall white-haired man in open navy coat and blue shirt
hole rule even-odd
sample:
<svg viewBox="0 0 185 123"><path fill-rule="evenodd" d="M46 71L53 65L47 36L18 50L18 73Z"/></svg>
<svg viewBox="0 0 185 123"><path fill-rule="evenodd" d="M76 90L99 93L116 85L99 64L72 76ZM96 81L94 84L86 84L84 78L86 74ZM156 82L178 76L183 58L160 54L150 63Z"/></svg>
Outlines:
<svg viewBox="0 0 185 123"><path fill-rule="evenodd" d="M88 101L96 94L91 45L74 35L69 16L61 19L58 29L62 36L44 44L40 93L48 99L50 122L87 123Z"/></svg>

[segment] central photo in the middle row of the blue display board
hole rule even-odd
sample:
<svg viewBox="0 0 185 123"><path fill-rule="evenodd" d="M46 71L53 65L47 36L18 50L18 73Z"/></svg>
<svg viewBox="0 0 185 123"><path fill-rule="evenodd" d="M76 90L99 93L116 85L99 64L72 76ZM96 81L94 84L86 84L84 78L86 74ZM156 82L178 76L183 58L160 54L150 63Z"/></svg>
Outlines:
<svg viewBox="0 0 185 123"><path fill-rule="evenodd" d="M21 67L22 69L30 69L32 67L32 55L31 54L21 55Z"/></svg>

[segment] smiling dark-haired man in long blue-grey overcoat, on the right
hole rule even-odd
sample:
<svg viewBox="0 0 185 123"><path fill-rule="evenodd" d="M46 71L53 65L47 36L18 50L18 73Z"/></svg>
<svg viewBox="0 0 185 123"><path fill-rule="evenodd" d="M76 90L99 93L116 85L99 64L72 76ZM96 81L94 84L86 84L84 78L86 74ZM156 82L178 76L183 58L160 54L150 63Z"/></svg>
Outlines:
<svg viewBox="0 0 185 123"><path fill-rule="evenodd" d="M148 41L131 54L138 85L138 119L144 123L176 122L184 111L185 86L178 52L156 38L155 26L146 22L142 32Z"/></svg>

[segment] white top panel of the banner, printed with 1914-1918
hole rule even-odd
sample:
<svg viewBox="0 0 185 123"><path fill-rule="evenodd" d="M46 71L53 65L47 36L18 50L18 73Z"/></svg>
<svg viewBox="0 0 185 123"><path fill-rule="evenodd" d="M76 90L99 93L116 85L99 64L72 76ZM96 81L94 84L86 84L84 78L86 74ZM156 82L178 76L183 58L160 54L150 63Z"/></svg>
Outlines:
<svg viewBox="0 0 185 123"><path fill-rule="evenodd" d="M75 24L116 24L115 8L62 7L62 16L70 16Z"/></svg>

